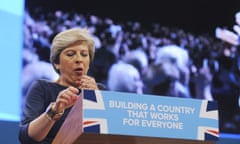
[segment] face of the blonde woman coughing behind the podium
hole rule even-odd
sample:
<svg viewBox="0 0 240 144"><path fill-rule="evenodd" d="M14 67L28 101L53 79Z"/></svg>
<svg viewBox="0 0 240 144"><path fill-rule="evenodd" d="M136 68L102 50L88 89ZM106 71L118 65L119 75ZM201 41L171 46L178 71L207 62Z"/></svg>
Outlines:
<svg viewBox="0 0 240 144"><path fill-rule="evenodd" d="M59 83L65 86L79 87L81 77L89 69L90 55L86 41L76 42L65 48L59 56L59 64L55 67L60 71Z"/></svg>

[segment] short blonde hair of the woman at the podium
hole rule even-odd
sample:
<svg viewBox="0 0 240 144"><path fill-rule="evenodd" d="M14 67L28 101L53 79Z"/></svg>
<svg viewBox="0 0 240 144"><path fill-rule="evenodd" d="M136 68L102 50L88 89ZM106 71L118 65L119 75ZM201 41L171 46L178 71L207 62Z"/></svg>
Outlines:
<svg viewBox="0 0 240 144"><path fill-rule="evenodd" d="M71 44L78 41L87 41L90 61L93 60L95 42L93 36L87 28L71 28L62 31L53 38L50 51L50 61L57 73L59 73L59 71L55 68L54 64L59 64L59 56L61 52Z"/></svg>

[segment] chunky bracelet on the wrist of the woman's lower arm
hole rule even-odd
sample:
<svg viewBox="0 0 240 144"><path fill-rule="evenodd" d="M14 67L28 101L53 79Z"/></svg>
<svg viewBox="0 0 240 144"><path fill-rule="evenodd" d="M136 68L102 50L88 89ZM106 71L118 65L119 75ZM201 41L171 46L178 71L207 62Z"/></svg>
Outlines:
<svg viewBox="0 0 240 144"><path fill-rule="evenodd" d="M56 110L53 110L54 105L55 103L50 103L45 111L46 116L50 121L58 120L64 114L64 110L60 113L58 113Z"/></svg>

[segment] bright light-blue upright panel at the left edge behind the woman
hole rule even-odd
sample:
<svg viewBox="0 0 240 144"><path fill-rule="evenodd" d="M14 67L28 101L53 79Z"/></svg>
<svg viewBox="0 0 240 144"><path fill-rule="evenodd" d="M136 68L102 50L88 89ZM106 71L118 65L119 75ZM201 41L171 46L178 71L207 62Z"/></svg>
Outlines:
<svg viewBox="0 0 240 144"><path fill-rule="evenodd" d="M18 121L21 96L21 54L24 0L0 2L0 120Z"/></svg>

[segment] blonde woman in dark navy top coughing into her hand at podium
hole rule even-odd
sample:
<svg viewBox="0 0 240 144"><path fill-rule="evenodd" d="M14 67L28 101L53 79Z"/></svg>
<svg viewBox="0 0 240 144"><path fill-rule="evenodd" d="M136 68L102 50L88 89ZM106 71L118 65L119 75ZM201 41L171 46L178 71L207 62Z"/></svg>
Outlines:
<svg viewBox="0 0 240 144"><path fill-rule="evenodd" d="M69 29L54 37L50 60L59 77L55 82L37 80L29 89L20 124L21 143L50 144L80 90L98 89L95 79L87 76L94 51L94 39L85 28Z"/></svg>

